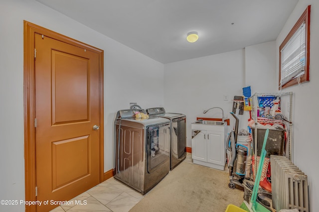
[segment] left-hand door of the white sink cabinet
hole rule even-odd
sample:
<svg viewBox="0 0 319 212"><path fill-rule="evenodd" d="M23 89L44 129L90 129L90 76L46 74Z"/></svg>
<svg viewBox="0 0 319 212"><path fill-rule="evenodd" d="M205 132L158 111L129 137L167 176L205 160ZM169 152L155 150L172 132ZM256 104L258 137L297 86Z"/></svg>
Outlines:
<svg viewBox="0 0 319 212"><path fill-rule="evenodd" d="M192 159L207 162L207 135L205 130L201 130L191 139Z"/></svg>

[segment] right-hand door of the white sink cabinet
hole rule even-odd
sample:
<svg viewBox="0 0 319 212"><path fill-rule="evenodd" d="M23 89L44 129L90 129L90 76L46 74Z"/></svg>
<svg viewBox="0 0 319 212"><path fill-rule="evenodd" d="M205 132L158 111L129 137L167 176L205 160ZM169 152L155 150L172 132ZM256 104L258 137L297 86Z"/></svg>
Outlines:
<svg viewBox="0 0 319 212"><path fill-rule="evenodd" d="M224 133L207 131L207 162L225 165Z"/></svg>

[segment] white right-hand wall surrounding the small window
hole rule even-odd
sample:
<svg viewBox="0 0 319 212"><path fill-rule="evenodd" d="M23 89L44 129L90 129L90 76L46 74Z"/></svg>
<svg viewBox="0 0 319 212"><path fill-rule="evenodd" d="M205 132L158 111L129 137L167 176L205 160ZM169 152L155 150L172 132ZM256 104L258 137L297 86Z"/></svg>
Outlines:
<svg viewBox="0 0 319 212"><path fill-rule="evenodd" d="M310 82L296 85L283 92L294 92L293 162L308 175L311 211L319 211L319 140L318 140L318 91L319 91L319 1L300 0L276 40L277 80L279 78L279 46L295 25L306 7L311 5L310 26Z"/></svg>

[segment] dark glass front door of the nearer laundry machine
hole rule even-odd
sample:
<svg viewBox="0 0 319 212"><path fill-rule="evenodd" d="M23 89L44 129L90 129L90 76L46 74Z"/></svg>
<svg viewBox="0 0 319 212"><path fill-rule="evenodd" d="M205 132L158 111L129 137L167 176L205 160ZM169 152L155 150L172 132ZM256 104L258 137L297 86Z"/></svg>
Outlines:
<svg viewBox="0 0 319 212"><path fill-rule="evenodd" d="M148 172L153 172L162 163L169 160L170 129L169 122L148 127Z"/></svg>

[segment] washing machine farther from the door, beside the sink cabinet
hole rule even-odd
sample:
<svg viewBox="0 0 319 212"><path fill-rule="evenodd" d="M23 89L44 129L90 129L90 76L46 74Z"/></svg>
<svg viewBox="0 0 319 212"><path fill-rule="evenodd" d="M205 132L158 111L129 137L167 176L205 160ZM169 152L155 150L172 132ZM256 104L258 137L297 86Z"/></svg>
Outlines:
<svg viewBox="0 0 319 212"><path fill-rule="evenodd" d="M170 121L170 170L186 158L186 115L165 112L163 107L146 109L150 116L167 118Z"/></svg>

